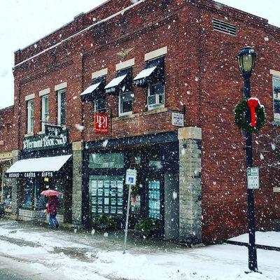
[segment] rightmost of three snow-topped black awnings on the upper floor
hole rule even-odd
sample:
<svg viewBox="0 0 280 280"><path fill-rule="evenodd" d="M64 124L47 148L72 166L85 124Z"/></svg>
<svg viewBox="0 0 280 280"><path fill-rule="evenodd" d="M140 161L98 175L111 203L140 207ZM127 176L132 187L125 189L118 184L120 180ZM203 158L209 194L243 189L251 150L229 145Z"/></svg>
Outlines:
<svg viewBox="0 0 280 280"><path fill-rule="evenodd" d="M165 83L165 57L147 62L146 67L135 78L134 85L147 87L149 83Z"/></svg>

